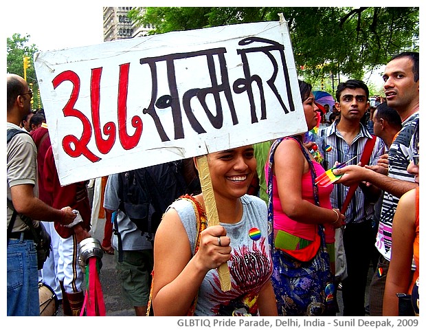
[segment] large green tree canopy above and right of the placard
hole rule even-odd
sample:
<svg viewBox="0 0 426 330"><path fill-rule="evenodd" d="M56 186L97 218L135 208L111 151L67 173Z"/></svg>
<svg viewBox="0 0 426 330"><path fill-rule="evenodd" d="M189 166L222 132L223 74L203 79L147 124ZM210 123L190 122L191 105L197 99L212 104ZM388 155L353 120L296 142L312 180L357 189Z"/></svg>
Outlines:
<svg viewBox="0 0 426 330"><path fill-rule="evenodd" d="M416 50L419 9L382 7L146 7L129 17L155 26L150 34L218 25L288 21L295 63L310 83L340 74L362 78L404 50Z"/></svg>

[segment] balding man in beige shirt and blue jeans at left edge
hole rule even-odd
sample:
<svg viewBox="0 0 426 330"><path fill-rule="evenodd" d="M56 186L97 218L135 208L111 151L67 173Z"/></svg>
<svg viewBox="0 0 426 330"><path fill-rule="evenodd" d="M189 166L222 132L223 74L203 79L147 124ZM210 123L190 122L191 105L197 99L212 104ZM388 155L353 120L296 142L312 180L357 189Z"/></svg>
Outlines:
<svg viewBox="0 0 426 330"><path fill-rule="evenodd" d="M16 74L7 74L7 131L22 129L21 119L31 111L32 91ZM7 315L39 316L37 253L34 236L23 215L38 230L39 219L67 225L76 214L69 206L60 210L38 199L37 152L30 134L16 134L7 145L8 258ZM10 223L13 222L13 225Z"/></svg>

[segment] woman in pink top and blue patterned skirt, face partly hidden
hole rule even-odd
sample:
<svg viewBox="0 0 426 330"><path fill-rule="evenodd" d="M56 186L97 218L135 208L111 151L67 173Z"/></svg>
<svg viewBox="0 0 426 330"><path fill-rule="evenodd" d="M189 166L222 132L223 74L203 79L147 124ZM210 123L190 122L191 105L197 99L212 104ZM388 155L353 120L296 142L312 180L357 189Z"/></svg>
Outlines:
<svg viewBox="0 0 426 330"><path fill-rule="evenodd" d="M299 80L299 87L306 124L311 130L320 114L312 86ZM272 278L281 316L320 316L334 311L335 290L325 245L333 246L334 230L345 217L331 207L333 186L315 186L314 179L324 173L324 168L304 146L303 136L276 140L269 154L271 166L269 162L265 166L269 213L273 214L273 219L269 219L273 220ZM328 250L334 252L334 247Z"/></svg>

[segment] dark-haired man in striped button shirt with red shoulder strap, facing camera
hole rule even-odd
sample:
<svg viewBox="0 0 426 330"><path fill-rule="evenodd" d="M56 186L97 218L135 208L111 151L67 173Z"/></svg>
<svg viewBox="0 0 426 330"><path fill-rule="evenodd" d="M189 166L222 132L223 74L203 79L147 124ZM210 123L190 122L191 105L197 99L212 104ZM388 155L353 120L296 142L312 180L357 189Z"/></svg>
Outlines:
<svg viewBox="0 0 426 330"><path fill-rule="evenodd" d="M348 80L340 83L336 91L336 108L340 113L338 123L320 129L318 136L323 139L320 146L328 168L336 162L343 163L356 156L350 164L357 164L372 136L361 120L370 104L368 102L368 87L361 80ZM324 146L330 146L325 150ZM374 142L372 154L368 157L368 164L375 165L384 152L383 141ZM374 186L360 184L346 210L346 228L343 230L343 245L346 256L348 276L342 281L342 297L344 316L365 315L365 291L370 266L370 252L374 247L374 233L372 219L374 219L373 202L377 201L380 190ZM335 184L330 195L333 208L341 210L348 195L346 186ZM339 232L337 232L339 234ZM338 241L336 242L338 250Z"/></svg>

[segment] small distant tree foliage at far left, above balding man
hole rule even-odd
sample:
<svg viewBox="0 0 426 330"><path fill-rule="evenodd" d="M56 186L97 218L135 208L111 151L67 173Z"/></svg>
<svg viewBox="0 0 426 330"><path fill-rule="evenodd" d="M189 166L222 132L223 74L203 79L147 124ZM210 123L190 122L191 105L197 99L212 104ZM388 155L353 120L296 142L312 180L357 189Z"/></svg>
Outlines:
<svg viewBox="0 0 426 330"><path fill-rule="evenodd" d="M33 108L41 107L41 99L38 94L38 83L36 79L36 71L34 69L33 56L38 51L36 45L28 45L30 35L21 36L19 33L14 33L11 38L7 39L7 65L8 73L19 74L23 77L23 58L27 56L30 58L30 67L27 69L27 83L32 84L32 90L34 91L33 96Z"/></svg>

